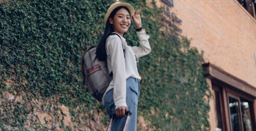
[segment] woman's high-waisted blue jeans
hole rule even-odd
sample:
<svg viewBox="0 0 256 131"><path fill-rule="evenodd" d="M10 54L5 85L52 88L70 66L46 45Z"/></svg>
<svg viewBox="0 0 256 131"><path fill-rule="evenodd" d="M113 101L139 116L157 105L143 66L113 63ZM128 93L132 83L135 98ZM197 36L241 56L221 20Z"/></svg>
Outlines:
<svg viewBox="0 0 256 131"><path fill-rule="evenodd" d="M137 131L137 106L140 86L137 79L129 77L126 79L126 104L128 110L132 112L127 131ZM109 90L105 96L105 106L109 118L115 113L115 103L113 99L113 89ZM111 131L122 131L126 122L126 117L115 117Z"/></svg>

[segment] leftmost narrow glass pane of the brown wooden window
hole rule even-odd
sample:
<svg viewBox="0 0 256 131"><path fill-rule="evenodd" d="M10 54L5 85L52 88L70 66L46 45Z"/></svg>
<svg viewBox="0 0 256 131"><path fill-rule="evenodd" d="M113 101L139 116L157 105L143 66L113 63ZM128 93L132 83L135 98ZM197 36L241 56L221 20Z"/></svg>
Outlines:
<svg viewBox="0 0 256 131"><path fill-rule="evenodd" d="M220 94L219 91L215 91L215 107L216 107L216 116L217 116L217 128L222 129L222 118L220 110Z"/></svg>

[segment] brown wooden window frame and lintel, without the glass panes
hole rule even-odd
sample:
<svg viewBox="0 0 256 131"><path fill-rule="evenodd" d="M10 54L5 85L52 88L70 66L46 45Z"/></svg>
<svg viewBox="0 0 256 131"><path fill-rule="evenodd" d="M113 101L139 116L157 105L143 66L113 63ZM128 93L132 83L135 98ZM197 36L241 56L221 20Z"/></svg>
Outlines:
<svg viewBox="0 0 256 131"><path fill-rule="evenodd" d="M239 104L240 98L244 98L250 101L250 115L251 115L251 125L252 129L256 130L256 122L255 122L255 102L256 100L256 87L246 83L245 81L231 75L230 73L225 72L224 70L220 69L219 67L205 63L203 64L204 68L204 75L207 78L211 79L212 89L219 91L220 97L220 106L221 106L221 117L222 117L222 128L223 131L231 131L231 120L230 120L230 109L229 109L229 96L239 96ZM234 98L234 97L233 97ZM239 105L239 113L240 118L241 113L241 106ZM243 130L243 123L241 119L241 125Z"/></svg>

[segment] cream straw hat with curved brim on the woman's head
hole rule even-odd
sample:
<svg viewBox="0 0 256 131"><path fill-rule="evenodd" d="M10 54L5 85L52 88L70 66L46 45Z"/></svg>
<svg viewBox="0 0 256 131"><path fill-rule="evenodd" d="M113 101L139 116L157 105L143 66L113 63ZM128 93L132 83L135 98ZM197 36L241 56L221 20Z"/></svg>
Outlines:
<svg viewBox="0 0 256 131"><path fill-rule="evenodd" d="M131 14L131 15L134 15L134 8L133 8L132 5L130 5L130 4L128 4L128 3L115 2L114 4L112 4L112 5L108 8L108 11L107 11L107 13L106 13L106 15L105 15L105 18L104 18L104 24L105 24L105 25L106 25L106 23L107 23L107 21L108 21L108 17L109 17L109 15L111 14L111 12L112 12L115 8L117 8L117 7L119 7L119 6L125 6L125 7L127 7L127 8L129 9L129 11L130 11L130 14Z"/></svg>

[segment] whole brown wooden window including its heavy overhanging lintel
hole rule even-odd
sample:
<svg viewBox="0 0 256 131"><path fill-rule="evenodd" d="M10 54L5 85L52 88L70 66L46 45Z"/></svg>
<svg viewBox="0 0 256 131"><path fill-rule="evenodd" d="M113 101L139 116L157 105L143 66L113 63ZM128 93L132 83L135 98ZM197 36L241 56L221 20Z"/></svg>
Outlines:
<svg viewBox="0 0 256 131"><path fill-rule="evenodd" d="M256 131L256 87L214 64L205 63L203 67L213 89L215 130Z"/></svg>

